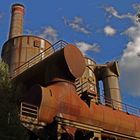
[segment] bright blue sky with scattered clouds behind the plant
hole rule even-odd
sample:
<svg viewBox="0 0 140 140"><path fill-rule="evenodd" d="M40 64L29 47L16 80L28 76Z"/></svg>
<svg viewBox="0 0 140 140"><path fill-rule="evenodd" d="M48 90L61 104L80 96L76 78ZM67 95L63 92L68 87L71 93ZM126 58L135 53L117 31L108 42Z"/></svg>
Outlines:
<svg viewBox="0 0 140 140"><path fill-rule="evenodd" d="M24 34L54 43L63 39L106 63L118 60L125 103L140 107L140 24L135 15L139 0L1 0L0 46L7 40L10 6L25 5Z"/></svg>

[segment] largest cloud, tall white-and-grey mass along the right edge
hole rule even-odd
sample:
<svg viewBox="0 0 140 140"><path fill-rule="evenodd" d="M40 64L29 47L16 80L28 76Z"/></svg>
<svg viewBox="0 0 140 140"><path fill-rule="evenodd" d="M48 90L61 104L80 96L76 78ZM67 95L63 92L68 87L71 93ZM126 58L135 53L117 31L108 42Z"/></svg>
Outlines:
<svg viewBox="0 0 140 140"><path fill-rule="evenodd" d="M120 59L121 84L125 91L133 96L140 96L140 24L134 22L125 34L130 41Z"/></svg>

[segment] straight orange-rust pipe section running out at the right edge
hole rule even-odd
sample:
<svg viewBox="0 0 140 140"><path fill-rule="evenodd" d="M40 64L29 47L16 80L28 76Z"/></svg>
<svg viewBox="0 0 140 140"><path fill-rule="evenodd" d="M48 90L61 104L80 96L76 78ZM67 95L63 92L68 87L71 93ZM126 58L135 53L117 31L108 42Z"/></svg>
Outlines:
<svg viewBox="0 0 140 140"><path fill-rule="evenodd" d="M92 112L91 125L103 128L108 132L116 132L126 136L140 138L140 118L135 115L129 115L125 112L113 110L104 105L91 103ZM88 124L87 122L84 122Z"/></svg>

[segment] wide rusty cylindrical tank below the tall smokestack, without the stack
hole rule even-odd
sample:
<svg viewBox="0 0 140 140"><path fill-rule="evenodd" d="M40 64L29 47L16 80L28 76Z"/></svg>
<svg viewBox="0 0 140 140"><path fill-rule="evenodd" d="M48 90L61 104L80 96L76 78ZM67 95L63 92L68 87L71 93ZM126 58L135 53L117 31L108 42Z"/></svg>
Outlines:
<svg viewBox="0 0 140 140"><path fill-rule="evenodd" d="M36 36L18 36L9 39L2 48L2 59L9 65L10 75L14 69L18 68L29 59L50 48L51 44L40 37ZM48 53L53 52L51 49ZM42 54L40 57L44 57ZM21 70L21 69L19 69ZM22 70L21 70L22 71ZM20 71L18 71L20 73Z"/></svg>

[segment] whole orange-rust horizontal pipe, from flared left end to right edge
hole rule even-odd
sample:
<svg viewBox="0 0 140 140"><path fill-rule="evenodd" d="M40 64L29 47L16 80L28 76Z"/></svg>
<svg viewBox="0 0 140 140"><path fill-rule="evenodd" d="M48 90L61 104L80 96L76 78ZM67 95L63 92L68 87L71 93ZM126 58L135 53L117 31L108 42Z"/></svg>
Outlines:
<svg viewBox="0 0 140 140"><path fill-rule="evenodd" d="M28 95L28 102L39 106L40 122L52 123L55 116L58 116L82 123L83 127L87 124L103 132L140 138L139 117L94 102L91 102L89 108L76 94L71 82L52 82L48 87L34 85Z"/></svg>

